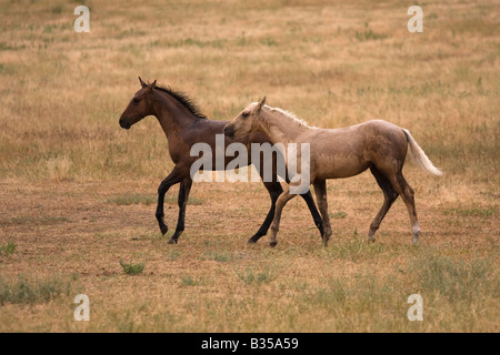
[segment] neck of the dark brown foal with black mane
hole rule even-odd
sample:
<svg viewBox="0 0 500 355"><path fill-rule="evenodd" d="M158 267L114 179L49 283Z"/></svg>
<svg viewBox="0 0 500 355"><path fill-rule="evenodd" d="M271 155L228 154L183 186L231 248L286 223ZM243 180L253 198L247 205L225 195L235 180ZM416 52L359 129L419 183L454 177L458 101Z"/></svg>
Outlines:
<svg viewBox="0 0 500 355"><path fill-rule="evenodd" d="M158 91L154 91L153 112L168 139L199 120L174 98Z"/></svg>

